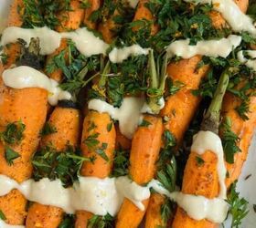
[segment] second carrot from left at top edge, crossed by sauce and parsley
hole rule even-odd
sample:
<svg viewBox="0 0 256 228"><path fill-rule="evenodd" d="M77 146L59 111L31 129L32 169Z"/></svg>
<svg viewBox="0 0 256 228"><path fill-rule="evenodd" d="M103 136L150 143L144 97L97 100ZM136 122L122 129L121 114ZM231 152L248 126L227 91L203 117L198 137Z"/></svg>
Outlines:
<svg viewBox="0 0 256 228"><path fill-rule="evenodd" d="M79 0L71 0L70 1L70 10L62 11L59 13L59 21L60 25L56 28L58 32L65 32L70 30L75 30L80 27L80 24L84 17L84 10L80 7L80 1ZM49 61L51 61L52 58L59 55L59 53L64 50L66 47L68 47L67 40L62 39L60 46L56 49L54 53L48 56L47 64ZM66 57L68 58L68 56ZM53 78L57 81L62 80L62 70L56 69L53 72L48 74L49 78Z"/></svg>

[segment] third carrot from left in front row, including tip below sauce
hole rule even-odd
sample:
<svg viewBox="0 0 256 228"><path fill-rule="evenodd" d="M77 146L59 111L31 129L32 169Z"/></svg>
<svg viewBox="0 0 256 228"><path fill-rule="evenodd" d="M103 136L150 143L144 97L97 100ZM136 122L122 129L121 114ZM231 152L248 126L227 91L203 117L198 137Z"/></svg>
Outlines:
<svg viewBox="0 0 256 228"><path fill-rule="evenodd" d="M108 126L112 126L112 128ZM110 115L90 110L83 122L80 148L84 157L94 157L95 161L83 163L80 171L82 176L106 178L110 175L113 164L115 138L115 128ZM94 140L94 144L91 144L91 139ZM102 149L103 155L97 152L99 149ZM86 227L85 225L92 216L93 214L91 212L77 212L75 227Z"/></svg>

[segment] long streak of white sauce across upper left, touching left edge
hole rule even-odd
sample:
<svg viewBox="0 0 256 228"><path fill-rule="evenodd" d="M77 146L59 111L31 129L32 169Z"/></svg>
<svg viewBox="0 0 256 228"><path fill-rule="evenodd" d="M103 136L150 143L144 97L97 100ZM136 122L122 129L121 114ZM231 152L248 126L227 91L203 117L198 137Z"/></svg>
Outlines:
<svg viewBox="0 0 256 228"><path fill-rule="evenodd" d="M71 39L80 53L86 57L105 54L109 47L108 44L99 37L94 36L86 27L79 28L69 33L58 33L47 26L35 27L33 29L16 26L7 27L3 32L0 46L15 43L19 38L24 39L28 46L32 37L38 37L40 39L41 55L52 54L60 46L61 38Z"/></svg>

